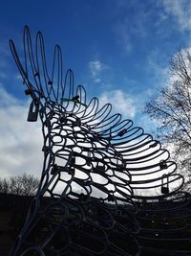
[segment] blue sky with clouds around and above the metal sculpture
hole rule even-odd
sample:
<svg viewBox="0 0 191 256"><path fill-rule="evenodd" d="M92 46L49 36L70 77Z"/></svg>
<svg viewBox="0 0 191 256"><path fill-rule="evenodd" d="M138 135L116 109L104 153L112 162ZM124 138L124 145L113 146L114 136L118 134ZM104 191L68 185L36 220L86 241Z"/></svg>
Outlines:
<svg viewBox="0 0 191 256"><path fill-rule="evenodd" d="M35 152L41 149L40 125L26 123L29 102L9 48L12 38L22 55L25 24L33 38L43 33L50 66L53 46L61 46L64 72L74 70L75 84L85 86L89 99L110 102L114 112L155 132L140 108L168 82L170 58L191 46L190 14L190 0L2 1L1 176L27 172L29 166L37 174L41 162Z"/></svg>

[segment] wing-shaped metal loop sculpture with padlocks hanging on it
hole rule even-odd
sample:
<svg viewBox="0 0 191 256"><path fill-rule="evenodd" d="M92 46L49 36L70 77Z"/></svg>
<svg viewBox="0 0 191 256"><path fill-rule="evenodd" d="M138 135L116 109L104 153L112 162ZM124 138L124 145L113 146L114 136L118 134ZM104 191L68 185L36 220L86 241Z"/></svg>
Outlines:
<svg viewBox="0 0 191 256"><path fill-rule="evenodd" d="M44 163L11 255L138 256L138 201L173 197L183 177L159 141L112 105L87 102L71 69L63 81L58 45L49 72L42 34L34 50L28 27L23 40L24 63L12 40L11 52L32 98L28 121L42 123Z"/></svg>

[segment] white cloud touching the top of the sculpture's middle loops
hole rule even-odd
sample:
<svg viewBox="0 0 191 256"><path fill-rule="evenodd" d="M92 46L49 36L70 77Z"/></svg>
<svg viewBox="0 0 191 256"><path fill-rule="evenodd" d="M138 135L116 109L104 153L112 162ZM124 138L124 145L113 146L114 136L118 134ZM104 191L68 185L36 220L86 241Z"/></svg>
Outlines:
<svg viewBox="0 0 191 256"><path fill-rule="evenodd" d="M137 112L136 100L121 90L103 92L99 96L100 105L110 103L114 113L120 113L123 117L134 118Z"/></svg>

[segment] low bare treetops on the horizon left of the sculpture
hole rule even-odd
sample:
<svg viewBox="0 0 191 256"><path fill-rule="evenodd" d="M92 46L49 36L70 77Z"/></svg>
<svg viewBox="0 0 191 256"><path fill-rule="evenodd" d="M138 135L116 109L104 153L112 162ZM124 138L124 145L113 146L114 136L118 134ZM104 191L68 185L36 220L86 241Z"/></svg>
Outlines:
<svg viewBox="0 0 191 256"><path fill-rule="evenodd" d="M33 175L17 175L0 179L0 192L17 196L34 196L39 180Z"/></svg>

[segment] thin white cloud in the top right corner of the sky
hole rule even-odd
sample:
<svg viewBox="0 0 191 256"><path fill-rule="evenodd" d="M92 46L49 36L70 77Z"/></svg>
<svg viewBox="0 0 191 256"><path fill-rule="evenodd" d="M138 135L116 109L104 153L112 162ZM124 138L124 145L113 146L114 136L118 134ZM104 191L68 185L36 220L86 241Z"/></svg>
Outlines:
<svg viewBox="0 0 191 256"><path fill-rule="evenodd" d="M174 15L181 31L191 30L191 1L190 0L163 0L165 12Z"/></svg>

